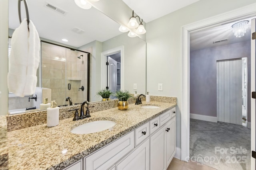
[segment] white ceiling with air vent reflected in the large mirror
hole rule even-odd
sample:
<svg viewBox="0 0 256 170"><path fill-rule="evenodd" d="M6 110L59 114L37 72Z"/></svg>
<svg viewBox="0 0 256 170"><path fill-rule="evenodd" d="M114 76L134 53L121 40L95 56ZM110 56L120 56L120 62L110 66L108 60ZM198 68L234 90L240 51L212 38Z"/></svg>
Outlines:
<svg viewBox="0 0 256 170"><path fill-rule="evenodd" d="M64 43L73 47L80 47L94 40L106 41L121 34L119 24L108 18L95 8L84 10L79 8L74 0L47 0L50 4L65 10L63 16L45 7L46 0L26 0L30 20L36 26L40 37ZM21 2L21 18L26 18L24 3ZM9 28L16 29L20 25L18 17L18 1L9 0ZM84 30L84 33L75 33L74 27ZM61 39L69 41L64 42Z"/></svg>

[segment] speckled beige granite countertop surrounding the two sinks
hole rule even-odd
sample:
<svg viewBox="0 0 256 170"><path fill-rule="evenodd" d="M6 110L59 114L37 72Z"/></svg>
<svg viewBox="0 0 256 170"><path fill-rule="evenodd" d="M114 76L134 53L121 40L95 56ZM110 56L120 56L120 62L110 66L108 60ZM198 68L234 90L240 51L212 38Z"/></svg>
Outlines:
<svg viewBox="0 0 256 170"><path fill-rule="evenodd" d="M142 105L146 102L142 102ZM136 127L176 106L176 103L150 102L159 106L156 109L141 108L142 105L129 104L121 111L117 107L91 113L91 117L79 121L72 118L60 120L59 125L47 127L36 125L10 131L9 140L10 170L16 169L62 169L88 154L100 149ZM89 121L112 120L112 128L91 134L77 135L71 129ZM67 152L62 153L63 150Z"/></svg>

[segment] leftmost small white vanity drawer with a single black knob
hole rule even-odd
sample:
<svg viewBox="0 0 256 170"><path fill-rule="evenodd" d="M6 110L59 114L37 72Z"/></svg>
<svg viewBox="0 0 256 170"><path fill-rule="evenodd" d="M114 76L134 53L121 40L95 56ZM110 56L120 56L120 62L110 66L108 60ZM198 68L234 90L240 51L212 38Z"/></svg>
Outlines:
<svg viewBox="0 0 256 170"><path fill-rule="evenodd" d="M142 142L144 139L146 139L149 136L149 122L145 123L144 125L141 125L140 127L135 129L135 141L136 145L138 145L140 142Z"/></svg>

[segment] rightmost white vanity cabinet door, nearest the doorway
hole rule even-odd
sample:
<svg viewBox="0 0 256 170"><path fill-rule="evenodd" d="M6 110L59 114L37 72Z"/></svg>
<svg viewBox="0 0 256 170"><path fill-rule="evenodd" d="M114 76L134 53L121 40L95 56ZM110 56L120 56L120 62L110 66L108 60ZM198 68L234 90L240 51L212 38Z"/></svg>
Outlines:
<svg viewBox="0 0 256 170"><path fill-rule="evenodd" d="M172 118L164 127L167 168L176 152L176 117Z"/></svg>

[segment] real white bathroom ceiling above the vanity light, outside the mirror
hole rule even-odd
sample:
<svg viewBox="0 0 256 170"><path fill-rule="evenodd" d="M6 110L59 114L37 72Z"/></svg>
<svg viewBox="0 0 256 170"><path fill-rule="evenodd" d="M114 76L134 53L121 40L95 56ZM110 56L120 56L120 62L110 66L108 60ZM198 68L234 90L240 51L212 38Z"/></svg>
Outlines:
<svg viewBox="0 0 256 170"><path fill-rule="evenodd" d="M134 12L150 22L199 0L123 0Z"/></svg>

